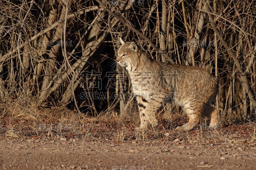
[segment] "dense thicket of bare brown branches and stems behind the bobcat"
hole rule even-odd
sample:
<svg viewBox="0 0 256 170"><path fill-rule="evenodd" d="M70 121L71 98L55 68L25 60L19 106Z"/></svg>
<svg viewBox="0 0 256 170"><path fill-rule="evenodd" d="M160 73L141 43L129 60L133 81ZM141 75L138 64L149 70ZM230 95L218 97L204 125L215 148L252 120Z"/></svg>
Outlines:
<svg viewBox="0 0 256 170"><path fill-rule="evenodd" d="M210 71L222 117L255 113L254 1L1 0L0 11L2 106L124 113L133 98L115 63L122 37L156 60Z"/></svg>

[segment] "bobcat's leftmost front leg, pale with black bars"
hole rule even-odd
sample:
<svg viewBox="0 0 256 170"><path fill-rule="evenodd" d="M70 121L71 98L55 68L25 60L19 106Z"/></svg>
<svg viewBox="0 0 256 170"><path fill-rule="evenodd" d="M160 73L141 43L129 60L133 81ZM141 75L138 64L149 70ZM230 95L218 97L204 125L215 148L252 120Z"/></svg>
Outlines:
<svg viewBox="0 0 256 170"><path fill-rule="evenodd" d="M147 129L148 120L145 115L145 108L148 106L148 101L144 99L142 96L137 96L138 107L140 111L140 127L139 129Z"/></svg>

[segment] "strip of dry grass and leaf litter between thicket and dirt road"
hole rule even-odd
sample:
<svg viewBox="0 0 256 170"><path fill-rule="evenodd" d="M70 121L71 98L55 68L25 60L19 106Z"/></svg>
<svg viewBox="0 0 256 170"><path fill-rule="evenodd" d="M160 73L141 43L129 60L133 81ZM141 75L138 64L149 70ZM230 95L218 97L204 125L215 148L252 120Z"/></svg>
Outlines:
<svg viewBox="0 0 256 170"><path fill-rule="evenodd" d="M31 105L28 105L31 106ZM221 122L217 129L211 129L201 119L201 123L188 132L176 132L176 126L187 121L184 114L172 114L171 117L161 114L158 116L160 125L150 127L144 133L136 130L140 119L138 111L130 109L126 116L117 116L112 113L102 113L97 118L78 114L65 108L35 109L13 102L11 106L0 107L0 136L8 138L18 137L47 137L47 138L83 138L88 140L163 140L206 144L219 143L255 143L256 123L225 123ZM108 116L106 116L108 115ZM168 117L168 119L166 119Z"/></svg>

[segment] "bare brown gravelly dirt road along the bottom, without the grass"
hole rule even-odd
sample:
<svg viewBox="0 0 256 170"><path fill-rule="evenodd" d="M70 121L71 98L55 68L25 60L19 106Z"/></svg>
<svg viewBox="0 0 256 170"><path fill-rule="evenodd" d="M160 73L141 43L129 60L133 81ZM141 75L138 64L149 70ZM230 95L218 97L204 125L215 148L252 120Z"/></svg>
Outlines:
<svg viewBox="0 0 256 170"><path fill-rule="evenodd" d="M0 169L255 169L255 144L1 138Z"/></svg>

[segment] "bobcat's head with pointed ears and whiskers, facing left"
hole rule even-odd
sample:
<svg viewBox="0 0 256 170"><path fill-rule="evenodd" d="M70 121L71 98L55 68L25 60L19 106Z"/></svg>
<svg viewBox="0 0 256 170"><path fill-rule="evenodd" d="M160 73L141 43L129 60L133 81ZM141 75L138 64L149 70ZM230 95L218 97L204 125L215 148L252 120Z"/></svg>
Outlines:
<svg viewBox="0 0 256 170"><path fill-rule="evenodd" d="M122 46L118 50L116 62L127 71L134 71L139 63L139 48L134 42L124 42L121 38L120 42Z"/></svg>

